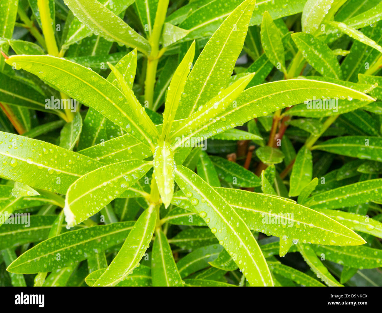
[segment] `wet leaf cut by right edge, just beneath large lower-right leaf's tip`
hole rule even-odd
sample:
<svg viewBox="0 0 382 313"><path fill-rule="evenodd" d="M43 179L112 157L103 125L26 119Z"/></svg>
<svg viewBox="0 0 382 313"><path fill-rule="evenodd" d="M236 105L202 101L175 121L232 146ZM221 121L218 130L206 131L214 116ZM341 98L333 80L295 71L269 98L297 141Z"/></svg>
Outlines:
<svg viewBox="0 0 382 313"><path fill-rule="evenodd" d="M314 252L325 259L353 268L379 268L382 266L382 250L369 247L327 247L314 245Z"/></svg>

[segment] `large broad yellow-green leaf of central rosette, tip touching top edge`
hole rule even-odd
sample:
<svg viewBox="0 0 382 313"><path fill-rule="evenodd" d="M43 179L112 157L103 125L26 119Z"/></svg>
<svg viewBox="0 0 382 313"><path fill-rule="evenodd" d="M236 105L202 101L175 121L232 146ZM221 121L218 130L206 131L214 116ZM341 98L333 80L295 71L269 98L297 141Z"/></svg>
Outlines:
<svg viewBox="0 0 382 313"><path fill-rule="evenodd" d="M225 88L243 48L254 5L254 0L241 3L212 35L187 78L176 119L189 117Z"/></svg>

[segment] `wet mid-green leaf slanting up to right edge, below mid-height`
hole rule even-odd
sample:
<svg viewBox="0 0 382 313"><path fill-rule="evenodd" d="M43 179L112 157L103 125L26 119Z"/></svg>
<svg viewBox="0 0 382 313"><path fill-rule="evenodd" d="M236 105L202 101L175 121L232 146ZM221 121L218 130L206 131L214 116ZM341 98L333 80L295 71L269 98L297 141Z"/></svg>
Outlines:
<svg viewBox="0 0 382 313"><path fill-rule="evenodd" d="M381 198L382 178L366 180L318 193L306 200L313 209L339 209Z"/></svg>

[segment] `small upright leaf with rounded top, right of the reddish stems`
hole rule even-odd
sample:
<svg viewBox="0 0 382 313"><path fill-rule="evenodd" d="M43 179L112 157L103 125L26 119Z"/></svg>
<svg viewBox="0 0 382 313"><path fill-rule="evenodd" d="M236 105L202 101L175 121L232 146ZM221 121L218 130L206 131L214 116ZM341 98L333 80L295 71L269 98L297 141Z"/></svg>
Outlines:
<svg viewBox="0 0 382 313"><path fill-rule="evenodd" d="M290 176L289 196L298 196L312 179L313 161L312 152L303 146L297 153Z"/></svg>

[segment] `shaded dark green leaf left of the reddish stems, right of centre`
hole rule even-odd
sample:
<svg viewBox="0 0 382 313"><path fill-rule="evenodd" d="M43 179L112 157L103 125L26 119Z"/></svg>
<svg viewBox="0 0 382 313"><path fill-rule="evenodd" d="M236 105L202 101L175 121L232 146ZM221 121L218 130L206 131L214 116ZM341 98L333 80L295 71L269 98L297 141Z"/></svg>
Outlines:
<svg viewBox="0 0 382 313"><path fill-rule="evenodd" d="M260 186L260 179L251 171L222 157L210 156L219 178L240 187Z"/></svg>

